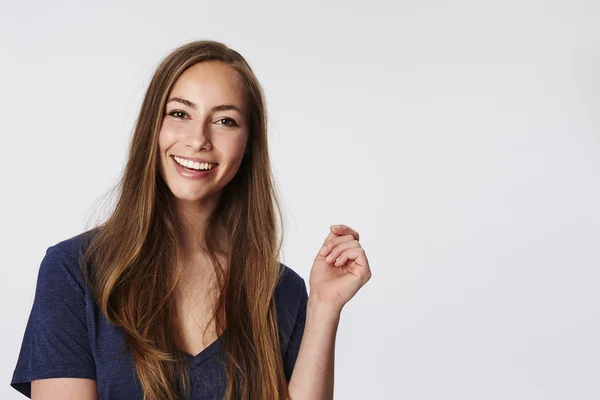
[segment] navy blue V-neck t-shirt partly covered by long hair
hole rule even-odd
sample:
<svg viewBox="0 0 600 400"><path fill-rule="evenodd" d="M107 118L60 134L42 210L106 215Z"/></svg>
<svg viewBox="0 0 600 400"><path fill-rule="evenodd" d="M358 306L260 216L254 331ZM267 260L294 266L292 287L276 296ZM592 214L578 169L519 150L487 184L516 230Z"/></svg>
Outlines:
<svg viewBox="0 0 600 400"><path fill-rule="evenodd" d="M98 399L142 399L142 389L122 328L111 325L92 299L79 266L79 234L48 248L41 262L35 299L11 386L31 397L31 381L44 378L88 378L96 381ZM280 263L284 276L275 289L284 373L289 381L296 363L308 292L306 283ZM190 367L190 399L221 399L226 369L216 340L196 356Z"/></svg>

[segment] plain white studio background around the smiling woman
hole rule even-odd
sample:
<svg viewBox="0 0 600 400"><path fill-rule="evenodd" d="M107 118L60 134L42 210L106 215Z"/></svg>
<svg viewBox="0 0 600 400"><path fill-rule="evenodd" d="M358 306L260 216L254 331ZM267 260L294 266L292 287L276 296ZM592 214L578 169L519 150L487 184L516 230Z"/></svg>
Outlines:
<svg viewBox="0 0 600 400"><path fill-rule="evenodd" d="M198 39L264 86L286 265L308 280L330 224L361 235L336 399L600 398L599 2L1 4L0 398L45 250Z"/></svg>

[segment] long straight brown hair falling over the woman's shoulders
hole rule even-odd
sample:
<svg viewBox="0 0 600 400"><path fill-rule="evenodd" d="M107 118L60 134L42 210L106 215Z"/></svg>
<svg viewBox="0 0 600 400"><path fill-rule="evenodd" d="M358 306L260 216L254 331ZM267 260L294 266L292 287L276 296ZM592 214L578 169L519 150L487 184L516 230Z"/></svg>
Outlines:
<svg viewBox="0 0 600 400"><path fill-rule="evenodd" d="M136 120L114 211L88 231L95 234L82 266L91 260L93 267L84 268L86 279L108 321L124 330L144 398L171 400L187 393L189 370L176 345L182 230L158 172L157 148L176 80L187 68L209 60L226 63L242 77L250 116L248 153L223 188L204 234L218 282L212 318L228 365L225 398L239 392L243 399L279 400L288 397L274 299L282 272L282 213L269 160L263 91L238 52L203 40L161 61Z"/></svg>

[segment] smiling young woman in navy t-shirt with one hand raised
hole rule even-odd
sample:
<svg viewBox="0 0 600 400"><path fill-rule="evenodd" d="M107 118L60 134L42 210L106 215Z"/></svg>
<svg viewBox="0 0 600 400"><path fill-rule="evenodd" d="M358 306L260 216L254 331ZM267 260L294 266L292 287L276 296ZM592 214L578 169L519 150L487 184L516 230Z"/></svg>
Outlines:
<svg viewBox="0 0 600 400"><path fill-rule="evenodd" d="M162 61L119 184L106 222L48 248L11 385L34 399L332 399L340 313L369 263L344 225L310 296L278 261L263 92L239 53L197 41Z"/></svg>

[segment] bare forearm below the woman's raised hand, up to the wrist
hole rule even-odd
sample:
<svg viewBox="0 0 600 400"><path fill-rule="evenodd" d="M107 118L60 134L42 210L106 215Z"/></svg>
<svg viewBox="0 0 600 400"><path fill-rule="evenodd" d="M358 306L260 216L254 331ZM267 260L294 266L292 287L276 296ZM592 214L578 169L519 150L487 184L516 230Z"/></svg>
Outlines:
<svg viewBox="0 0 600 400"><path fill-rule="evenodd" d="M333 399L335 337L340 312L316 296L309 296L302 343L289 383L289 400Z"/></svg>

